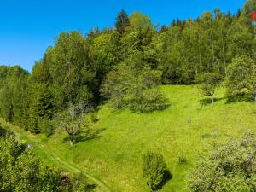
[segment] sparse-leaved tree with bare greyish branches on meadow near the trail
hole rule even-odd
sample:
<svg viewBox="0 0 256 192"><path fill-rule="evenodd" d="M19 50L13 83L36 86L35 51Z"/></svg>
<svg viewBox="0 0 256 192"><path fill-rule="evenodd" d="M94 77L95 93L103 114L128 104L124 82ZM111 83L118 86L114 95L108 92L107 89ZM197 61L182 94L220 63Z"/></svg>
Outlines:
<svg viewBox="0 0 256 192"><path fill-rule="evenodd" d="M83 133L85 114L89 111L89 103L70 103L66 110L57 114L57 125L67 132L71 147Z"/></svg>

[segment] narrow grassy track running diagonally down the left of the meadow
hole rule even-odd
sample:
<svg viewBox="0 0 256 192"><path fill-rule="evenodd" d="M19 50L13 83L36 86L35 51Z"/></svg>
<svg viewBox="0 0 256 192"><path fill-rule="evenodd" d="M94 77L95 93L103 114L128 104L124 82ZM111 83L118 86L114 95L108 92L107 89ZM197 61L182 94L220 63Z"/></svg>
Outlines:
<svg viewBox="0 0 256 192"><path fill-rule="evenodd" d="M49 160L51 160L55 165L59 165L59 166L61 165L61 167L65 168L67 171L72 173L79 173L79 172L84 173L86 177L88 177L92 182L96 183L96 185L100 188L99 191L101 192L112 191L100 179L91 176L89 173L84 172L84 170L79 169L78 167L74 166L72 163L63 160L58 154L55 154L54 151L49 150L49 148L47 147L47 144L44 143L40 138L35 137L32 134L21 130L17 126L9 125L8 123L4 122L3 119L1 119L0 125L3 125L4 128L10 131L13 131L15 133L15 136L21 143L32 144L33 147L40 148L42 151L44 151L45 154L47 154Z"/></svg>

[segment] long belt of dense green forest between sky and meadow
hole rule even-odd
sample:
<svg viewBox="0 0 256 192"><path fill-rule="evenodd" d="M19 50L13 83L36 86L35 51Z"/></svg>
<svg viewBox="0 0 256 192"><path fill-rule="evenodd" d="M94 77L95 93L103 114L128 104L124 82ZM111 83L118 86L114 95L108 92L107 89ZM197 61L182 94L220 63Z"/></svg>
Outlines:
<svg viewBox="0 0 256 192"><path fill-rule="evenodd" d="M61 32L31 74L0 67L0 114L37 133L49 130L47 121L69 103L97 106L110 99L115 108L166 108L159 84L195 84L205 73L223 79L235 55L255 61L253 5L247 1L236 15L215 9L160 28L147 15L121 11L113 28Z"/></svg>

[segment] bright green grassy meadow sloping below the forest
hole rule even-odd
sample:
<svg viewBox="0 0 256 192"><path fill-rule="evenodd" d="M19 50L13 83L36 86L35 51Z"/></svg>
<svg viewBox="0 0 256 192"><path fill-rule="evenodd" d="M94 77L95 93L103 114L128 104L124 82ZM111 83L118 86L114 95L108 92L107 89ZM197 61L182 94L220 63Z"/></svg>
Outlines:
<svg viewBox="0 0 256 192"><path fill-rule="evenodd" d="M200 101L204 97L196 86L172 85L162 89L171 102L170 108L164 111L131 113L104 105L98 113L99 121L93 125L95 130L103 129L98 137L77 143L72 149L61 132L49 139L39 135L37 141L47 146L50 153L54 152L55 157L99 178L115 192L149 191L142 176L141 158L147 150L158 151L164 155L173 176L160 191L186 191L186 175L199 154L209 153L214 143L239 137L247 130L256 131L256 104L227 104L224 90L218 90L218 102L202 105ZM212 137L214 130L215 138ZM33 143L24 131L20 138ZM38 149L35 153L46 163L65 168L47 151ZM179 165L179 156L184 156L187 164Z"/></svg>

